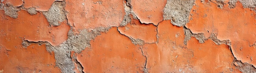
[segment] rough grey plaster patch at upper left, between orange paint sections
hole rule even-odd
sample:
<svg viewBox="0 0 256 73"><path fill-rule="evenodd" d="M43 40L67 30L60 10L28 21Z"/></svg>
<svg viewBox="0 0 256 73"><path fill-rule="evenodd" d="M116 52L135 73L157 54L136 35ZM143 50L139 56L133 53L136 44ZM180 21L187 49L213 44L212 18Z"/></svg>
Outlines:
<svg viewBox="0 0 256 73"><path fill-rule="evenodd" d="M50 25L59 26L59 22L63 22L66 19L65 4L64 1L55 1L49 11L43 12Z"/></svg>

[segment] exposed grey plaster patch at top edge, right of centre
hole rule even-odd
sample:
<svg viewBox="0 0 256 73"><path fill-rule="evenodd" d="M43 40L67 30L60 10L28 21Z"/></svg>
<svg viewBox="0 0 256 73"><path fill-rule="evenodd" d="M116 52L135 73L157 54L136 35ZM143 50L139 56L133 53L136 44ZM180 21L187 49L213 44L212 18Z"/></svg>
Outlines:
<svg viewBox="0 0 256 73"><path fill-rule="evenodd" d="M195 0L167 0L164 7L164 20L171 20L176 26L184 26L189 22L189 13Z"/></svg>

